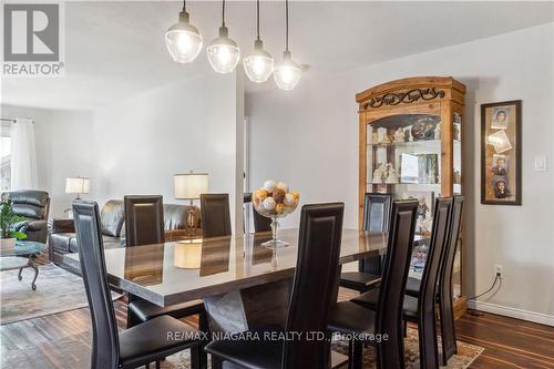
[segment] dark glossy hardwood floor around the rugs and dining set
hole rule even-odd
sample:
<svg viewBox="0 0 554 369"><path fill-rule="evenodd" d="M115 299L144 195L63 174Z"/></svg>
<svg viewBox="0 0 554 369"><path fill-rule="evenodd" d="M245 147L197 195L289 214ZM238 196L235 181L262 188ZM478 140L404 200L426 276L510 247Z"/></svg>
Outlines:
<svg viewBox="0 0 554 369"><path fill-rule="evenodd" d="M350 295L341 289L339 298ZM115 301L115 310L124 327L125 301ZM554 368L554 327L470 310L456 320L456 334L485 348L471 368ZM0 326L1 368L89 368L91 337L86 308Z"/></svg>

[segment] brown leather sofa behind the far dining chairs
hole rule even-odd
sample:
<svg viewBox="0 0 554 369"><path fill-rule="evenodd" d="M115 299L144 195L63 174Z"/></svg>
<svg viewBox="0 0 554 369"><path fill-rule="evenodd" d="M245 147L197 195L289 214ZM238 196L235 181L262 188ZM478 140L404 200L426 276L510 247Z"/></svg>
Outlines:
<svg viewBox="0 0 554 369"><path fill-rule="evenodd" d="M186 237L185 225L188 206L177 204L164 204L165 240L177 240ZM198 219L197 236L202 235L199 228L199 209L195 207ZM100 215L102 238L104 248L125 246L125 211L123 201L111 199L102 207ZM63 263L63 255L78 253L75 228L72 219L53 219L49 236L49 256L52 263L72 270ZM72 270L76 271L76 270Z"/></svg>

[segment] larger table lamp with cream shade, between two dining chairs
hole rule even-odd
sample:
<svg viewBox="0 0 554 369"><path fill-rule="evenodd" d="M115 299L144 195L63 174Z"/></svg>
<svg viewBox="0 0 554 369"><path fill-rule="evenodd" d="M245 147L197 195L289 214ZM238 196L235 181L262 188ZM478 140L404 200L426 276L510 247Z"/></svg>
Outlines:
<svg viewBox="0 0 554 369"><path fill-rule="evenodd" d="M189 199L191 206L186 217L186 230L188 236L195 236L196 232L196 212L194 209L194 201L201 198L201 194L208 192L208 175L207 173L191 173L175 174L175 198Z"/></svg>

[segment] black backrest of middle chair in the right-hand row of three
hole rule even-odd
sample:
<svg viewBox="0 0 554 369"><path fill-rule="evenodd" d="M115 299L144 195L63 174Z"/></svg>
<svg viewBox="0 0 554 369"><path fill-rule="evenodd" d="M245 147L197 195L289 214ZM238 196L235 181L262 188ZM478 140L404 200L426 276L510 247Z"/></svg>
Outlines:
<svg viewBox="0 0 554 369"><path fill-rule="evenodd" d="M439 197L433 212L433 229L427 254L425 267L421 276L419 312L424 315L434 311L437 281L445 245L449 242L452 197Z"/></svg>

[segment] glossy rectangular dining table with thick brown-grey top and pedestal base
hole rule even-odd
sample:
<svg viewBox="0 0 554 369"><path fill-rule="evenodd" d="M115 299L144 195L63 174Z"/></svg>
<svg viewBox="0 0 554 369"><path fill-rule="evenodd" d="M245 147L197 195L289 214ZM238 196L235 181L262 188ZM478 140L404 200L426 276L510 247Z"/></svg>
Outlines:
<svg viewBox="0 0 554 369"><path fill-rule="evenodd" d="M281 229L287 247L261 245L271 233L106 248L109 283L161 307L204 300L213 331L285 326L299 229ZM383 255L387 234L343 229L339 264ZM64 263L79 268L79 254Z"/></svg>

